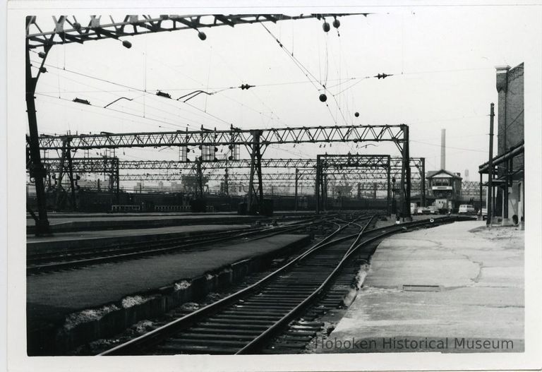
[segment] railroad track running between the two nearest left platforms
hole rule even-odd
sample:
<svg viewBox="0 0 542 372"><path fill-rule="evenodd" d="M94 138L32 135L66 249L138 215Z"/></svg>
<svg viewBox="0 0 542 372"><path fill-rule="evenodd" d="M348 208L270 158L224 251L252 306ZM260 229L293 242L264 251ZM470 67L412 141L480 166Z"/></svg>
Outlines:
<svg viewBox="0 0 542 372"><path fill-rule="evenodd" d="M154 241L113 244L103 247L80 248L70 251L35 253L27 258L27 275L58 270L71 270L88 265L118 262L161 254L201 251L210 249L211 244L219 244L236 239L251 241L264 239L277 234L294 232L316 225L323 220L311 217L308 220L289 222L277 227L251 227L225 232L205 234L205 236L175 237Z"/></svg>

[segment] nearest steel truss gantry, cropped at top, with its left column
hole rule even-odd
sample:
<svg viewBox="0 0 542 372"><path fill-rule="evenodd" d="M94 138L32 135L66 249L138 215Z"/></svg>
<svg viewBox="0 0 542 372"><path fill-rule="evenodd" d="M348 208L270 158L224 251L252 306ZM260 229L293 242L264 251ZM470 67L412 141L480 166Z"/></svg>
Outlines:
<svg viewBox="0 0 542 372"><path fill-rule="evenodd" d="M358 13L367 16L368 13ZM143 35L154 32L166 32L175 30L198 30L198 37L205 40L206 36L201 32L200 28L212 28L222 25L234 27L239 24L246 23L263 23L273 22L278 20L296 20L303 18L325 18L349 16L351 14L306 14L299 16L287 16L284 14L230 14L230 15L160 15L152 16L137 16L127 15L121 21L115 21L109 16L110 23L102 23L102 16L90 16L88 24L82 25L78 22L75 16L53 17L52 30L47 30L37 24L36 16L26 17L26 37L25 37L25 100L28 114L28 157L30 162L28 170L30 178L35 180L36 198L38 215L35 216L32 211L32 217L35 218L35 232L37 235L49 234L49 220L47 219L47 207L45 199L44 176L45 169L43 167L40 155L40 143L37 130L37 117L35 107L35 91L37 81L42 73L47 72L45 68L45 60L49 51L57 44L70 44L73 42L83 44L92 40L116 39L120 37L129 37L135 35ZM130 48L131 43L128 40L122 42L124 47ZM30 61L30 51L38 49L38 56L42 59L41 64L37 67L37 73L32 74L32 62Z"/></svg>

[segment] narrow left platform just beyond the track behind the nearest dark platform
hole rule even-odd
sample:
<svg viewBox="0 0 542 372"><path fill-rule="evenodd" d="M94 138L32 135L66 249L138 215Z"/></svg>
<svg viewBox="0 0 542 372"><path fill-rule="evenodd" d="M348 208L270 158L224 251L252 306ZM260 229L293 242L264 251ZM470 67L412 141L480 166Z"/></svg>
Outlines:
<svg viewBox="0 0 542 372"><path fill-rule="evenodd" d="M190 226L157 227L154 229L117 229L90 232L64 232L54 236L26 236L27 253L87 248L97 245L108 246L133 241L152 241L155 239L179 236L194 236L212 232L246 229L248 224L196 224Z"/></svg>

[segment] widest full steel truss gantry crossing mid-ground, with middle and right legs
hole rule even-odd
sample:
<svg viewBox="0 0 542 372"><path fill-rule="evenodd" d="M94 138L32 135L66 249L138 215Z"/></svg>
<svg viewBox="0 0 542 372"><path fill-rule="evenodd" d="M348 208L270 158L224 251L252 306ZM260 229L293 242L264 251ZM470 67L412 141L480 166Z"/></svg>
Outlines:
<svg viewBox="0 0 542 372"><path fill-rule="evenodd" d="M189 146L246 146L251 155L249 193L247 204L252 213L260 212L263 205L262 166L263 153L268 145L287 143L359 143L390 141L402 153L401 164L401 205L402 216L410 216L410 167L409 127L400 125L376 126L303 126L296 128L201 130L145 133L102 133L65 136L40 136L40 150L61 150L64 143L73 149L97 148L157 148ZM355 155L352 155L355 156ZM199 161L203 166L203 158ZM212 164L209 162L208 164ZM207 163L205 163L207 164Z"/></svg>

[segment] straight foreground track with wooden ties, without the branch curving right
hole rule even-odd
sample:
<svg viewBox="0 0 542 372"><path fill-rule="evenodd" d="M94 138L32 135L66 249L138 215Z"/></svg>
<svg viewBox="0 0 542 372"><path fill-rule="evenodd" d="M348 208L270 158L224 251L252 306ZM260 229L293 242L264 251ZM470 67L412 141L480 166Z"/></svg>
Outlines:
<svg viewBox="0 0 542 372"><path fill-rule="evenodd" d="M311 301L372 221L335 222L335 232L255 284L103 354L236 354L274 335L270 325Z"/></svg>

